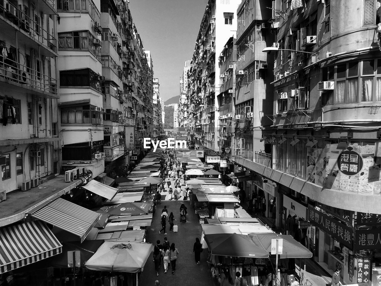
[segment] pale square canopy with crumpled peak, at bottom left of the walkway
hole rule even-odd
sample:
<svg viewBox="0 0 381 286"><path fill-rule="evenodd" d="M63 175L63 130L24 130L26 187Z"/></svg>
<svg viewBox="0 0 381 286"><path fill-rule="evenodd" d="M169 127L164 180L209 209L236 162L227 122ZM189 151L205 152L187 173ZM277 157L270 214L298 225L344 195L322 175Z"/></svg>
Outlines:
<svg viewBox="0 0 381 286"><path fill-rule="evenodd" d="M141 272L153 249L151 243L105 241L85 267L107 272Z"/></svg>

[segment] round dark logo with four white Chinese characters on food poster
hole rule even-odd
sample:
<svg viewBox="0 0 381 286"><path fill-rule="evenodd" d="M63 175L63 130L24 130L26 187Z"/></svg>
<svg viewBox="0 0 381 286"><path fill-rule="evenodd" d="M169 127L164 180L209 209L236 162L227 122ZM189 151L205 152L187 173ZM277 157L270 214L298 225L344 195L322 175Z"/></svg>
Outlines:
<svg viewBox="0 0 381 286"><path fill-rule="evenodd" d="M339 154L337 164L341 173L347 176L355 176L361 172L364 161L359 153L353 151L352 147L348 147L348 150Z"/></svg>

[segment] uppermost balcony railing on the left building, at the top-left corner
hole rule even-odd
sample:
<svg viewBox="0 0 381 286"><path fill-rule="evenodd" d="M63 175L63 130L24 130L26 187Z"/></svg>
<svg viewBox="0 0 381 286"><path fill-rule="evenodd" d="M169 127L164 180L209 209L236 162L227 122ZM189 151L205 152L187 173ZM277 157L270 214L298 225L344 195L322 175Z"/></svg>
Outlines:
<svg viewBox="0 0 381 286"><path fill-rule="evenodd" d="M35 41L42 43L55 53L57 52L57 39L54 38L53 34L43 29L38 21L30 18L10 2L0 1L0 15L12 22L20 31L24 31Z"/></svg>

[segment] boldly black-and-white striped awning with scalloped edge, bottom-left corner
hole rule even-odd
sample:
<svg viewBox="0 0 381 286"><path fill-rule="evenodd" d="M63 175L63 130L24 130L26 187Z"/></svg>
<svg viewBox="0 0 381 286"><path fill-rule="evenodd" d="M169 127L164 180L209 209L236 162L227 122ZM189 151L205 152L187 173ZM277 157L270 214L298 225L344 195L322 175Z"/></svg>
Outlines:
<svg viewBox="0 0 381 286"><path fill-rule="evenodd" d="M62 252L45 223L33 221L0 228L0 274Z"/></svg>

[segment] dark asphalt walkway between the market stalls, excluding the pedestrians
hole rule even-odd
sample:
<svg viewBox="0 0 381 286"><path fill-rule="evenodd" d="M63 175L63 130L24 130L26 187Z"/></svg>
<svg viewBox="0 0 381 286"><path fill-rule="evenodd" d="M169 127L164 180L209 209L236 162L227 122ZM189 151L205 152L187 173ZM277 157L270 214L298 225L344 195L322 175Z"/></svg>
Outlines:
<svg viewBox="0 0 381 286"><path fill-rule="evenodd" d="M171 185L173 186L174 180L173 178L171 179ZM181 179L181 183L184 183L183 179ZM172 275L171 268L169 268L168 272L164 273L164 266L161 264L159 276L156 276L155 265L152 262L151 255L147 260L146 266L140 276L139 286L154 285L155 280L159 280L162 286L190 285L190 280L192 280L192 286L213 285L206 262L208 253L207 249L201 253L200 265L197 265L194 260L193 244L195 242L195 238L200 238L202 233L197 214L195 214L194 209L189 207L189 200L183 201L184 197L181 196L178 201L175 201L174 199L169 201L168 188L166 188L166 192L163 194L167 194L166 200L163 200L161 206L158 205L156 208L155 215L152 219L152 224L147 234L147 242L155 245L157 239L160 240L160 243L163 243L164 238L167 237L170 243L175 244L176 248L180 252L176 261L176 272ZM188 223L179 223L180 206L182 203L184 203L188 208L188 214L186 216ZM177 220L176 223L179 226L178 233L169 231L169 224L167 222L167 235L164 235L163 233L159 235L158 231L161 229L160 215L164 206L167 206L168 214L173 212L174 218Z"/></svg>

